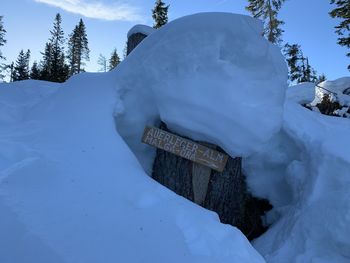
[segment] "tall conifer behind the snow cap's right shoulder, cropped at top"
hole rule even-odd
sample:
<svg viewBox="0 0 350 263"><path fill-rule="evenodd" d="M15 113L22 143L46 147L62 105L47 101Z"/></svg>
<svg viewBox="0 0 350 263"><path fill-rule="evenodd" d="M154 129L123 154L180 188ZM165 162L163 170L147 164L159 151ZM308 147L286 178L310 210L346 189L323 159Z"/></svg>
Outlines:
<svg viewBox="0 0 350 263"><path fill-rule="evenodd" d="M248 0L246 9L264 22L264 36L274 44L281 43L283 21L277 19L278 11L285 0Z"/></svg>

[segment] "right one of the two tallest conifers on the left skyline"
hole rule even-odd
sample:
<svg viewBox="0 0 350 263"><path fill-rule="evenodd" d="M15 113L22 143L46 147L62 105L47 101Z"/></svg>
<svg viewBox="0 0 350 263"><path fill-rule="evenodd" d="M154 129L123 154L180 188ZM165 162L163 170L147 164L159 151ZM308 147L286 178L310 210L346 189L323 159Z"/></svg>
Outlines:
<svg viewBox="0 0 350 263"><path fill-rule="evenodd" d="M79 21L69 36L68 60L69 74L74 75L84 71L84 60L89 60L89 47L85 25L82 19Z"/></svg>

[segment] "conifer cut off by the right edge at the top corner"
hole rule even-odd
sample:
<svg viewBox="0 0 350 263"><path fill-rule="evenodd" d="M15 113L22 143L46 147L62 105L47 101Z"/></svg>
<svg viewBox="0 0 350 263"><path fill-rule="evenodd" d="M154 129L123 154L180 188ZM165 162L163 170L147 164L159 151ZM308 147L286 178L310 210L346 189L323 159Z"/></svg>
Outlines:
<svg viewBox="0 0 350 263"><path fill-rule="evenodd" d="M339 35L338 44L346 48L350 48L350 1L349 0L331 0L331 4L335 4L337 7L333 9L329 14L333 18L341 19L339 25L335 27L335 32ZM346 54L350 57L350 52ZM350 70L350 65L348 65Z"/></svg>

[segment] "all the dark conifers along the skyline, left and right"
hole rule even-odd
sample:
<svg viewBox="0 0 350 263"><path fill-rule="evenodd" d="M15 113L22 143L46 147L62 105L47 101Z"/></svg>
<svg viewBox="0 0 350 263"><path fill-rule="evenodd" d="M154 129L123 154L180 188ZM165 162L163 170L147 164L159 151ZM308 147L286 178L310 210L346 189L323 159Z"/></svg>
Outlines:
<svg viewBox="0 0 350 263"><path fill-rule="evenodd" d="M285 0L247 0L247 2L246 10L264 23L263 35L270 42L281 47L288 64L291 82L320 82L326 79L324 74L317 76L316 70L310 65L308 57L304 56L300 45L283 43L284 21L278 18L278 12ZM349 49L350 2L349 0L330 0L330 4L334 9L329 12L329 15L340 20L335 27L335 33L338 35L337 43ZM156 0L152 9L154 28L160 28L168 22L168 9L169 5L162 0ZM6 30L2 19L3 17L0 16L0 47L6 43ZM44 52L41 53L43 58L40 63L34 62L29 69L30 50L26 52L21 50L15 63L0 64L0 79L4 77L5 69L10 69L13 81L32 78L64 82L70 76L84 71L85 61L89 60L90 52L84 22L80 19L79 24L69 35L67 52L64 51L65 38L61 23L62 18L57 14L53 30L50 31L51 38L46 43ZM350 53L348 52L346 56L350 57ZM4 59L0 49L0 61ZM119 63L120 58L116 49L113 50L109 60L102 54L98 59L100 71L104 72L113 69Z"/></svg>

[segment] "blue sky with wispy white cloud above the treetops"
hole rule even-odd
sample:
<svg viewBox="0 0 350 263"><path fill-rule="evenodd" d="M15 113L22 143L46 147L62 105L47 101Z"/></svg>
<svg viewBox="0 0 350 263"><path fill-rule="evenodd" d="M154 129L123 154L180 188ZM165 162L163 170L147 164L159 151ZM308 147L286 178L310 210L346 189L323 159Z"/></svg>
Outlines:
<svg viewBox="0 0 350 263"><path fill-rule="evenodd" d="M169 21L199 12L231 12L249 15L247 0L163 0L170 4ZM135 24L153 25L155 0L1 0L7 44L2 53L7 63L15 61L21 49L30 49L31 62L40 61L50 37L56 13L62 15L66 37L79 19L86 25L90 48L87 71L98 71L99 54L109 57L117 48L122 57L128 30ZM285 22L283 41L300 44L318 74L328 79L348 76L347 50L336 44L329 0L287 0L279 18Z"/></svg>

